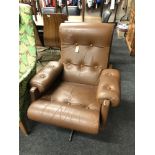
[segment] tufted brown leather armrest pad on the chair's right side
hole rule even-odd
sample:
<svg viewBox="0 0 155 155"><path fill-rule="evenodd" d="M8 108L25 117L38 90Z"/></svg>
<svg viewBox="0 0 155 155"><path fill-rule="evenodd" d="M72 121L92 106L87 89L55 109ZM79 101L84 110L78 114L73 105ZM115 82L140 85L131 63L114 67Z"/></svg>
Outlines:
<svg viewBox="0 0 155 155"><path fill-rule="evenodd" d="M100 76L97 88L97 99L103 103L110 100L111 106L116 107L120 103L120 72L116 69L104 69Z"/></svg>

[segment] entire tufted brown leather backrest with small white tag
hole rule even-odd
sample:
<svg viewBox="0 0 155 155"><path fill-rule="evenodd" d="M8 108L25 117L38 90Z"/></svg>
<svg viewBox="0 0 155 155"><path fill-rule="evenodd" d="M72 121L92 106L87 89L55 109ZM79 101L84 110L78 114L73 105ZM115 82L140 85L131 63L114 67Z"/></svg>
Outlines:
<svg viewBox="0 0 155 155"><path fill-rule="evenodd" d="M97 85L108 67L114 24L63 23L60 25L63 79Z"/></svg>

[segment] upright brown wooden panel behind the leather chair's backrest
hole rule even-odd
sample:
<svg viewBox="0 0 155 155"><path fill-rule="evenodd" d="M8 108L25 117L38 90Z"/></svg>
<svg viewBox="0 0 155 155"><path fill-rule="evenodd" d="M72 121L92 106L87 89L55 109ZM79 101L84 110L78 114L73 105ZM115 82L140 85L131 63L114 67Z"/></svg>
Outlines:
<svg viewBox="0 0 155 155"><path fill-rule="evenodd" d="M67 15L61 13L43 14L44 46L60 48L59 26L68 20Z"/></svg>

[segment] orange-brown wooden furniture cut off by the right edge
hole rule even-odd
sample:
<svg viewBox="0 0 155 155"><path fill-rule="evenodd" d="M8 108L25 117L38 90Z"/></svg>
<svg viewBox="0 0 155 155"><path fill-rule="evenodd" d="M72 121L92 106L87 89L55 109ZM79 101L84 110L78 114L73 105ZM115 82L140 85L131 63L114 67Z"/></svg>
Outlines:
<svg viewBox="0 0 155 155"><path fill-rule="evenodd" d="M130 55L135 55L135 11L131 9L129 28L126 35L126 43L129 48Z"/></svg>

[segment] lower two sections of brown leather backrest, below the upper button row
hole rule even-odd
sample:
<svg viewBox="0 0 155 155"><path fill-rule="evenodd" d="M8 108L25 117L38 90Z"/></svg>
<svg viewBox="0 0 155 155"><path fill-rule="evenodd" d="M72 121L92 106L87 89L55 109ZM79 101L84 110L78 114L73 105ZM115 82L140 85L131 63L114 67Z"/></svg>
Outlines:
<svg viewBox="0 0 155 155"><path fill-rule="evenodd" d="M64 64L63 79L70 82L97 85L102 69L107 68L109 47L79 46L78 53L74 51L75 46L66 48L61 53L61 61Z"/></svg>

